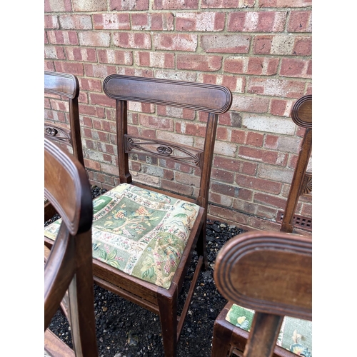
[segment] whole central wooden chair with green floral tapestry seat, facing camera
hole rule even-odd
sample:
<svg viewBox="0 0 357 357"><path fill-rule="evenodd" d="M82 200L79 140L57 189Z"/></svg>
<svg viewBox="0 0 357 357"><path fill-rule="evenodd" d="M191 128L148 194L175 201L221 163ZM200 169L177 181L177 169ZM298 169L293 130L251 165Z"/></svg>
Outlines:
<svg viewBox="0 0 357 357"><path fill-rule="evenodd" d="M165 356L174 357L198 273L208 266L206 218L213 148L218 114L230 108L231 91L211 84L116 74L106 77L103 87L104 93L116 101L119 186L94 200L94 281L159 314ZM128 101L151 104L151 108L156 104L206 112L207 121L198 123L206 133L196 130L194 147L177 140L131 135ZM167 119L157 116L153 120L164 123ZM184 134L178 136L184 138ZM199 180L191 174L192 183L183 186L184 193L134 183L129 167L138 162L129 163L132 154L153 156L162 166L171 161L175 169L191 166ZM146 181L150 179L148 173ZM193 187L196 181L198 188ZM56 237L56 226L56 222L48 226L49 245ZM196 271L181 316L177 316L178 293L195 249Z"/></svg>

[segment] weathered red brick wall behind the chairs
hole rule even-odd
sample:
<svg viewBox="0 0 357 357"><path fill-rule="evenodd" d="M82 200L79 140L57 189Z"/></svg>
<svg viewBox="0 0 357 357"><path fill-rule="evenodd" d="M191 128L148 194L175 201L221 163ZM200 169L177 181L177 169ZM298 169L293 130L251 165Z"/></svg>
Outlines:
<svg viewBox="0 0 357 357"><path fill-rule="evenodd" d="M278 230L303 136L290 110L312 91L311 26L308 0L45 0L44 68L79 77L85 164L91 182L105 188L116 183L114 107L101 86L107 75L227 86L233 104L218 124L209 216ZM196 131L189 111L159 108L178 124L158 126L143 107L139 115L131 106L133 131L188 140ZM151 170L166 188L187 186L194 174L174 175L140 157L131 166ZM296 213L311 217L311 198L301 198Z"/></svg>

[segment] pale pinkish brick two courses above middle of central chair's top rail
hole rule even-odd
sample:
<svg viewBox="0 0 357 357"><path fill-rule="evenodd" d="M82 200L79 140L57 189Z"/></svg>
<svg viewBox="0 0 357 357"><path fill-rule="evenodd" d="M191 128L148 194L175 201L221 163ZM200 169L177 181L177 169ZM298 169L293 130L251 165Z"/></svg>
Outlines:
<svg viewBox="0 0 357 357"><path fill-rule="evenodd" d="M196 51L197 35L193 34L154 34L155 49L167 51Z"/></svg>

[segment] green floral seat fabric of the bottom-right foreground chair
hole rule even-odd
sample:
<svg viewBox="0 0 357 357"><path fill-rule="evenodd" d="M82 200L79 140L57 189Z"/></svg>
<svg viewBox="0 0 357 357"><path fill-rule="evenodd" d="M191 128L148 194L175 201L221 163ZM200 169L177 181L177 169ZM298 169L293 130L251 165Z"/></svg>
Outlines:
<svg viewBox="0 0 357 357"><path fill-rule="evenodd" d="M250 331L253 316L253 310L233 304L226 315L226 321L243 328L243 330ZM312 357L311 321L286 316L283 319L276 344L298 356Z"/></svg>

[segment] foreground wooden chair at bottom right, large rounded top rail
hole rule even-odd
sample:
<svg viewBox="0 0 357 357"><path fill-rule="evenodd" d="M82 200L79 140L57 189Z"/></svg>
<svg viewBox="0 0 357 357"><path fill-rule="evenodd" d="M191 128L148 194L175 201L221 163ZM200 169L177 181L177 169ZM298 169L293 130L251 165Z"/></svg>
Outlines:
<svg viewBox="0 0 357 357"><path fill-rule="evenodd" d="M311 333L311 251L310 238L269 231L243 233L223 246L213 278L228 303L214 323L212 357L311 357L301 333Z"/></svg>

